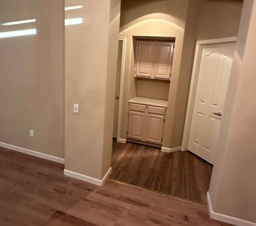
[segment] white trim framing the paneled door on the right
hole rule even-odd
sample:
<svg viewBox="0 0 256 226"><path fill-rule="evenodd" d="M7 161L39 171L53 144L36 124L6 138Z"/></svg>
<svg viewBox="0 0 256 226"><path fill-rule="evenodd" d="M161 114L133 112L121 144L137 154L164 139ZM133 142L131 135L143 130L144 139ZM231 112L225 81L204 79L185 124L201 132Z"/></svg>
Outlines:
<svg viewBox="0 0 256 226"><path fill-rule="evenodd" d="M233 42L236 42L236 37L197 41L192 77L191 77L191 82L190 82L189 96L188 96L188 102L187 102L184 132L183 132L183 137L182 137L182 145L181 145L182 151L186 151L187 146L188 146L188 138L189 138L194 102L195 102L196 91L197 91L198 72L199 72L199 66L200 66L201 53L203 50L203 46L210 45L210 44L233 43Z"/></svg>

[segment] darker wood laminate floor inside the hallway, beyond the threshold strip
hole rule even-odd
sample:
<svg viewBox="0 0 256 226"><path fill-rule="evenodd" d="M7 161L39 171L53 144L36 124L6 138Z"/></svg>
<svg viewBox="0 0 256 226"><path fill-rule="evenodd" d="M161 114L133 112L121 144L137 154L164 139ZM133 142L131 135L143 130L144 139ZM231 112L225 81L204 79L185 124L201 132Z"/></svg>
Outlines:
<svg viewBox="0 0 256 226"><path fill-rule="evenodd" d="M212 165L191 152L164 153L114 140L112 155L109 179L207 204Z"/></svg>

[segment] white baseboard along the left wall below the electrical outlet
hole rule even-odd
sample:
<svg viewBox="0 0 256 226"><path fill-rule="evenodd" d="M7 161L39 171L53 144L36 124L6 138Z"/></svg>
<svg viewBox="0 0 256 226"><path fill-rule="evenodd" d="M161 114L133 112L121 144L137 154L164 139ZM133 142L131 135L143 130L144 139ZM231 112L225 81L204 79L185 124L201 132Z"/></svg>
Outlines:
<svg viewBox="0 0 256 226"><path fill-rule="evenodd" d="M64 158L59 158L59 157L56 157L56 156L44 154L44 153L41 153L41 152L38 152L38 151L33 151L33 150L30 150L30 149L27 149L27 148L24 148L24 147L18 147L18 146L6 144L6 143L3 143L3 142L0 142L0 147L8 148L8 149L11 149L13 151L22 152L22 153L27 154L27 155L32 155L32 156L35 156L35 157L38 157L38 158L44 158L44 159L51 160L51 161L58 162L58 163L62 163L62 164L64 164L64 161L65 161Z"/></svg>

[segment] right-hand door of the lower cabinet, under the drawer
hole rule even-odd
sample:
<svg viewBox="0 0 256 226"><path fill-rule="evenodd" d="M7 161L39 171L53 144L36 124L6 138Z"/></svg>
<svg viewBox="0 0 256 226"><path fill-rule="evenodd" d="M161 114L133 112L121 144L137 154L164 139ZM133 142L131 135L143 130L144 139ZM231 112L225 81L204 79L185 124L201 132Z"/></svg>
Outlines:
<svg viewBox="0 0 256 226"><path fill-rule="evenodd" d="M151 143L162 143L163 115L148 114L145 141Z"/></svg>

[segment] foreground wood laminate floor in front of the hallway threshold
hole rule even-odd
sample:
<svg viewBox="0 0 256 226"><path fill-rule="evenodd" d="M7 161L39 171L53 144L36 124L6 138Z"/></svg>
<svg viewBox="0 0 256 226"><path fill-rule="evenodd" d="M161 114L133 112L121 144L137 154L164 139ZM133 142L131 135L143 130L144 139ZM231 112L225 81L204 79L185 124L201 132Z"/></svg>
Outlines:
<svg viewBox="0 0 256 226"><path fill-rule="evenodd" d="M98 187L63 168L0 147L0 226L228 226L206 206L111 181Z"/></svg>

